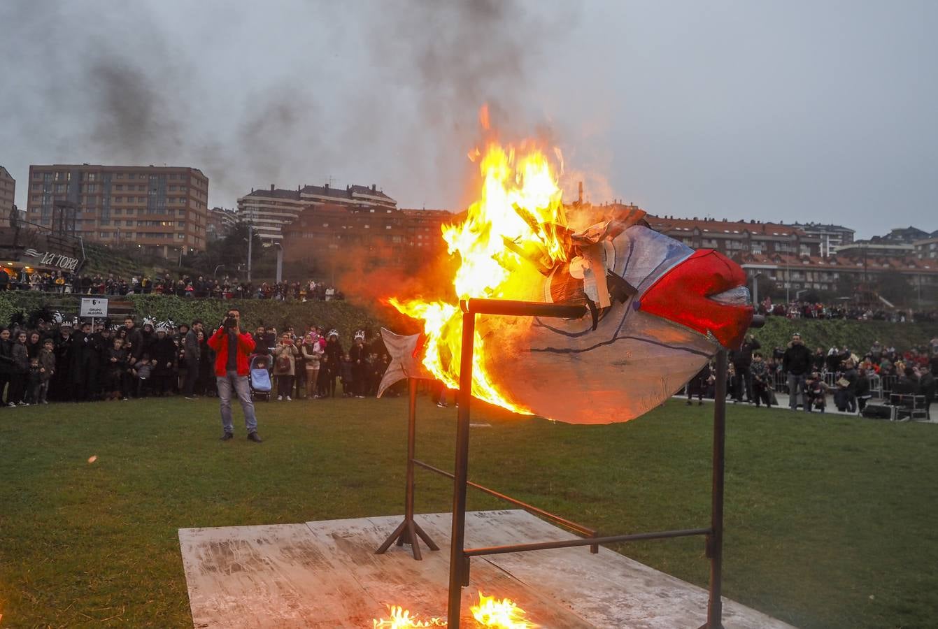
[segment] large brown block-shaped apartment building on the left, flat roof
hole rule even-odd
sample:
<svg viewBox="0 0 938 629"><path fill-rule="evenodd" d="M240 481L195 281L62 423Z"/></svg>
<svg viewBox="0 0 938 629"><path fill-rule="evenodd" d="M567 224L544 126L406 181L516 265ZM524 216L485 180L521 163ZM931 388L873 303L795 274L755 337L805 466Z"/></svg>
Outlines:
<svg viewBox="0 0 938 629"><path fill-rule="evenodd" d="M74 204L75 235L174 258L204 251L208 177L197 168L47 164L29 167L26 220L50 227Z"/></svg>

